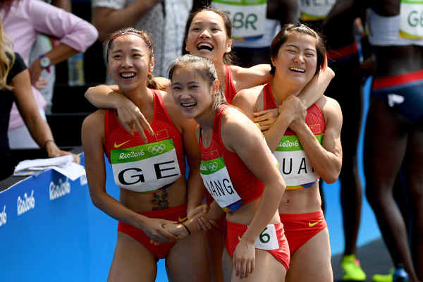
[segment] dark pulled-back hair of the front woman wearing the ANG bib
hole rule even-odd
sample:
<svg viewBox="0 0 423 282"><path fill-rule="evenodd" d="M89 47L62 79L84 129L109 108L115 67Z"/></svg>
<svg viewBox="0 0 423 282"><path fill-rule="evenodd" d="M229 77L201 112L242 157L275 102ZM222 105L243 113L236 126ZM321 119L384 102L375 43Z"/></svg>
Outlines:
<svg viewBox="0 0 423 282"><path fill-rule="evenodd" d="M210 87L212 87L215 80L218 80L216 68L214 68L214 63L209 59L201 56L190 54L179 56L169 68L169 80L172 81L173 73L178 68L185 68L190 70L192 73L195 73L196 75L200 75L203 80L209 83ZM226 101L225 94L221 90L221 87L219 87L216 96L214 97L212 110L215 112L222 104L228 104L228 102Z"/></svg>

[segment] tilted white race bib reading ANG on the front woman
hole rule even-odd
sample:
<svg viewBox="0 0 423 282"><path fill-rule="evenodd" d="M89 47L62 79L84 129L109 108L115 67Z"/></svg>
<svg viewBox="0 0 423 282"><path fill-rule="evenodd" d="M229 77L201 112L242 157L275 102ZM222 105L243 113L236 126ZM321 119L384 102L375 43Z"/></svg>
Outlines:
<svg viewBox="0 0 423 282"><path fill-rule="evenodd" d="M223 158L201 161L200 173L204 185L224 212L234 211L243 203L229 178Z"/></svg>

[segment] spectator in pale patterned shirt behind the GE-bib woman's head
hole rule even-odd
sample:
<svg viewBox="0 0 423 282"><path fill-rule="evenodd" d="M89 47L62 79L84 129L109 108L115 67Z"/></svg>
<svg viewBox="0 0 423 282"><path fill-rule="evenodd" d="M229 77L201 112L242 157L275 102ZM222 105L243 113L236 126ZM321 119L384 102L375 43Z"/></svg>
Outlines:
<svg viewBox="0 0 423 282"><path fill-rule="evenodd" d="M168 66L182 54L185 23L192 0L92 0L92 24L99 40L123 27L135 27L154 42L154 76L166 76ZM107 84L115 84L110 77Z"/></svg>

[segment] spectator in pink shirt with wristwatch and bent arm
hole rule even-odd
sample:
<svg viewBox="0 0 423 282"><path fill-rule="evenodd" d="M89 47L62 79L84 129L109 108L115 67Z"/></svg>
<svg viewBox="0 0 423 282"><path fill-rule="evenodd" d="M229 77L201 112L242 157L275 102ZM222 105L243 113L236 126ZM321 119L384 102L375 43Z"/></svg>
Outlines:
<svg viewBox="0 0 423 282"><path fill-rule="evenodd" d="M97 40L98 32L86 20L42 1L0 0L0 8L4 32L13 42L13 51L22 56L27 66L32 44L38 34L42 33L60 40L58 46L39 56L39 59L28 66L32 92L38 109L44 116L46 102L34 87L41 72L44 68L48 71L49 66L56 65L74 54L85 52ZM23 147L38 147L27 132L16 105L13 105L11 111L8 137L11 144L20 142Z"/></svg>

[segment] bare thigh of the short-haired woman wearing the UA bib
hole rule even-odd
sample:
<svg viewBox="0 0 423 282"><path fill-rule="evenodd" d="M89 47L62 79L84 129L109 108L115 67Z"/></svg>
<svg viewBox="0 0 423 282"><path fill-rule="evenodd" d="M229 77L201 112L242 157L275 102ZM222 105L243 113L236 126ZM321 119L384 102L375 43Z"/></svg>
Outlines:
<svg viewBox="0 0 423 282"><path fill-rule="evenodd" d="M291 255L286 281L333 281L328 228L314 235Z"/></svg>

